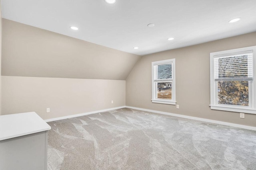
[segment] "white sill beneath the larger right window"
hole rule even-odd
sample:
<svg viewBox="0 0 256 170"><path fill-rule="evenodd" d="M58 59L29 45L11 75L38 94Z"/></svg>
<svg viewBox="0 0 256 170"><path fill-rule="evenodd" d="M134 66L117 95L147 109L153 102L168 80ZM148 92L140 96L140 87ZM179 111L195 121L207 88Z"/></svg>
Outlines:
<svg viewBox="0 0 256 170"><path fill-rule="evenodd" d="M218 106L218 105L211 105L211 109L214 110L224 110L224 111L234 111L234 112L241 112L241 113L251 113L256 114L256 110L252 108L241 108L241 107L232 107L232 106Z"/></svg>

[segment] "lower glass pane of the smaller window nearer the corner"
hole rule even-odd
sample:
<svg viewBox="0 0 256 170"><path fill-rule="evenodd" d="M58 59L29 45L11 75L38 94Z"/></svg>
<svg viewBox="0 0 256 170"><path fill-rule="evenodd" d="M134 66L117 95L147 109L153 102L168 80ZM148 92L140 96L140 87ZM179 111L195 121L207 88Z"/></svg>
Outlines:
<svg viewBox="0 0 256 170"><path fill-rule="evenodd" d="M172 83L158 82L157 83L157 98L158 99L172 99Z"/></svg>

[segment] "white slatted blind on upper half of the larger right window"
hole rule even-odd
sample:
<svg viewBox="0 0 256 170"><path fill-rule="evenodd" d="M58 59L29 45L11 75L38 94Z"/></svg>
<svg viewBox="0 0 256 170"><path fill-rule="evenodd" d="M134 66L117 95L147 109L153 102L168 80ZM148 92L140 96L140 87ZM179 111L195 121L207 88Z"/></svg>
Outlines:
<svg viewBox="0 0 256 170"><path fill-rule="evenodd" d="M243 51L239 53L221 55L214 58L214 80L242 81L253 79L253 53Z"/></svg>

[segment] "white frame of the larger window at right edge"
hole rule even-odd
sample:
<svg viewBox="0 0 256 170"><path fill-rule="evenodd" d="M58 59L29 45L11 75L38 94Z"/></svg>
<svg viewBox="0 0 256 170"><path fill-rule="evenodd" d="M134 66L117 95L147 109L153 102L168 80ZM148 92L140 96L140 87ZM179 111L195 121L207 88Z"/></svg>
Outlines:
<svg viewBox="0 0 256 170"><path fill-rule="evenodd" d="M249 104L251 104L251 106L218 104L218 87L214 80L214 58L229 56L232 55L232 53L240 53L243 51L253 51L253 80L249 81ZM216 110L256 114L256 46L210 53L210 107Z"/></svg>

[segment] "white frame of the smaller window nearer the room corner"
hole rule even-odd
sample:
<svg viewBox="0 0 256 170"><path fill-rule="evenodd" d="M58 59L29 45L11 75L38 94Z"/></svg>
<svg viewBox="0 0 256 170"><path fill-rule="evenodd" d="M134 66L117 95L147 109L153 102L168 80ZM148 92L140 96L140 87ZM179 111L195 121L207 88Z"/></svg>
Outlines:
<svg viewBox="0 0 256 170"><path fill-rule="evenodd" d="M172 82L172 99L158 99L157 98L157 86L154 82L154 65L162 65L162 64L172 64L172 80L169 82ZM176 81L175 81L175 59L168 59L168 60L162 60L162 61L155 61L152 62L152 103L160 103L160 104L172 104L176 105Z"/></svg>

